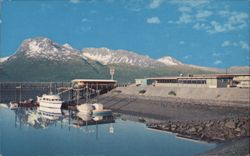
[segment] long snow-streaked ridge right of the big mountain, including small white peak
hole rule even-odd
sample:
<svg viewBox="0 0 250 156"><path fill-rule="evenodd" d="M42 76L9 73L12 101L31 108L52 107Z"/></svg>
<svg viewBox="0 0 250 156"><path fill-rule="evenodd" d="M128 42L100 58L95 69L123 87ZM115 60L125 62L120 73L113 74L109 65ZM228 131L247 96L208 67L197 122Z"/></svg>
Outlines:
<svg viewBox="0 0 250 156"><path fill-rule="evenodd" d="M190 64L184 64L181 61L176 60L171 56L164 56L158 60L150 58L149 56L139 55L136 52L126 50L112 50L108 48L85 48L82 51L82 55L86 58L99 61L104 65L109 64L127 64L137 67L149 67L149 68L179 68L203 70L206 72L224 72L222 69L202 67ZM172 66L172 67L170 67Z"/></svg>

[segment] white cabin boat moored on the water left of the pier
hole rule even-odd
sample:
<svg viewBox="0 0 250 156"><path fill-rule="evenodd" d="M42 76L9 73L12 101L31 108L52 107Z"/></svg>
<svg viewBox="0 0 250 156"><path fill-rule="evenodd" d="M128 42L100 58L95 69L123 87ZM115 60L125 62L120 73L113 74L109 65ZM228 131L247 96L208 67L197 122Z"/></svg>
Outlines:
<svg viewBox="0 0 250 156"><path fill-rule="evenodd" d="M43 94L42 97L37 96L37 103L40 107L60 109L63 101L57 94Z"/></svg>

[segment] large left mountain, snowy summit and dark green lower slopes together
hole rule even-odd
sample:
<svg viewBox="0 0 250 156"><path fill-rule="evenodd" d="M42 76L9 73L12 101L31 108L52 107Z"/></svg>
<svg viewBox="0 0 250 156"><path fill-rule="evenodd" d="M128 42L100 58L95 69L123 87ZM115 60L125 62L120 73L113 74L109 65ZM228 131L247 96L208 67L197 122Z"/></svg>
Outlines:
<svg viewBox="0 0 250 156"><path fill-rule="evenodd" d="M86 60L77 50L47 38L25 40L2 63L1 81L69 81L75 78L108 78L107 66Z"/></svg>

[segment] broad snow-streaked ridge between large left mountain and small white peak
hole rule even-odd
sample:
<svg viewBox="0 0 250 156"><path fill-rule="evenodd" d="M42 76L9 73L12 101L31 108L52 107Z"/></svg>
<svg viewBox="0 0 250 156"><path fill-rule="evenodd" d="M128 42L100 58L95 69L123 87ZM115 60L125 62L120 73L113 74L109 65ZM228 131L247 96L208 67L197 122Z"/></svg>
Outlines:
<svg viewBox="0 0 250 156"><path fill-rule="evenodd" d="M142 67L163 67L163 63L158 62L148 56L126 50L111 50L108 48L85 48L83 56L107 64L130 64Z"/></svg>

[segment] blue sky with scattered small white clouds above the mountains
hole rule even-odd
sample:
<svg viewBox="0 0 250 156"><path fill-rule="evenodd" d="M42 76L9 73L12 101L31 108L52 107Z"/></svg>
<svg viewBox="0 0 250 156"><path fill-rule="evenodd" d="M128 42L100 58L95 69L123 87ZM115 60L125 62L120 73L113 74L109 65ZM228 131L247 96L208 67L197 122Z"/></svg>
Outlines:
<svg viewBox="0 0 250 156"><path fill-rule="evenodd" d="M249 66L250 0L0 0L0 57L47 37L186 64Z"/></svg>

